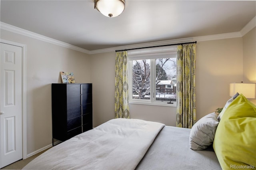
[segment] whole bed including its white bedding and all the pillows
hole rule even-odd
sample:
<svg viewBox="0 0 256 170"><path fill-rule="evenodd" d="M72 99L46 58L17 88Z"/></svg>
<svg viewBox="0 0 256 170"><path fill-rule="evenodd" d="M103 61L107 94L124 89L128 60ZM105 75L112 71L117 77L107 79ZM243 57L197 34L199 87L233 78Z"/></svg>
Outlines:
<svg viewBox="0 0 256 170"><path fill-rule="evenodd" d="M240 99L235 99L234 101L236 100L241 101ZM250 140L247 140L246 137L243 136L242 141L246 141L246 146L243 146L243 152L245 152L247 156L240 160L237 160L237 158L236 160L232 160L231 158L233 155L242 155L242 157L244 157L244 155L240 153L239 145L234 143L239 140L235 140L232 143L225 135L231 140L232 137L222 128L222 126L226 126L227 121L231 119L231 121L234 121L234 116L230 118L228 115L234 114L234 110L239 110L236 105L230 105L231 107L226 108L225 114L222 114L221 121L218 121L215 113L210 113L200 119L192 129L170 127L162 123L138 119L112 119L92 130L74 136L50 148L32 160L23 169L253 169L256 166L256 133L250 136L252 137ZM240 106L244 107L244 105L243 103ZM233 108L234 106L235 109ZM252 108L249 109L250 111L247 112L246 117L253 116L251 119L252 122L248 124L252 125L251 127L249 126L249 129L252 129L252 133L254 133L256 129L256 107L255 105L250 105L250 107ZM229 112L232 112L232 114ZM249 113L251 113L251 115L248 115ZM212 118L214 119L214 123L210 123L210 126L208 126ZM240 118L241 115L239 116L239 119ZM218 123L215 123L215 121ZM239 121L241 121L241 119ZM221 125L221 123L223 125ZM220 126L220 128L217 128L216 124L219 124L218 126ZM241 128L241 126L242 125L238 128ZM214 142L209 142L208 139L211 138L209 134L206 134L207 137L205 137L205 133L197 133L196 137L201 136L207 139L206 142L208 142L207 146L200 143L200 147L203 147L200 148L198 142L196 145L193 143L197 140L193 139L194 132L198 129L202 132L202 128L200 127L206 127L208 131L210 129L211 133L214 132L213 137L215 136L215 138L216 136L221 137L214 139ZM234 127L232 127L232 130L235 130L236 134L239 133ZM237 139L238 136L235 137ZM221 146L222 143L225 144L225 147ZM231 151L226 150L229 148L227 147L228 145L230 145ZM234 149L232 145L237 149ZM250 149L244 150L246 147ZM228 156L225 155L226 153L228 153ZM233 162L229 162L230 160Z"/></svg>

